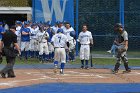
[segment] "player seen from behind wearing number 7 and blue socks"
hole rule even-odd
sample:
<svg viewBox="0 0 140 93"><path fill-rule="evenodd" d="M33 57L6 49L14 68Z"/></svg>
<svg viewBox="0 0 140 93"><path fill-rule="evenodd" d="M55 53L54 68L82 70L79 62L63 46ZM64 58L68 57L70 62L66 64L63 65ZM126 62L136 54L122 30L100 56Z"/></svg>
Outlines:
<svg viewBox="0 0 140 93"><path fill-rule="evenodd" d="M52 37L52 43L55 48L54 52L54 73L57 72L58 62L61 62L60 74L63 74L64 66L66 63L66 51L65 46L68 44L67 36L63 34L62 29L58 29L57 34ZM69 45L68 45L69 46Z"/></svg>

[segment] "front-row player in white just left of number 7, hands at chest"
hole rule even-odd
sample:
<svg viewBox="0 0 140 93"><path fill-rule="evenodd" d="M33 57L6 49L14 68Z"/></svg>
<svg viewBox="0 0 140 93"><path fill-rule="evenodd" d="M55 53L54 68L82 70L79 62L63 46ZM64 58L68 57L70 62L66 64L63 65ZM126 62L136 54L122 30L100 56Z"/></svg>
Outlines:
<svg viewBox="0 0 140 93"><path fill-rule="evenodd" d="M41 62L48 60L48 38L48 32L44 31L44 29L40 27L39 32L37 33L37 39L39 42L39 59Z"/></svg>

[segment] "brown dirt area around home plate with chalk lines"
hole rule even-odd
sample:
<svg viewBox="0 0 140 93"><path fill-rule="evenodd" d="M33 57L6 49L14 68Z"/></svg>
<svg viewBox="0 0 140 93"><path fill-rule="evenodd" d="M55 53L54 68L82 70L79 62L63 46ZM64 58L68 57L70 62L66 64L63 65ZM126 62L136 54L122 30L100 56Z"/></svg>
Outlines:
<svg viewBox="0 0 140 93"><path fill-rule="evenodd" d="M41 83L140 83L140 70L112 74L109 69L65 69L63 75L53 69L16 69L16 78L0 78L0 89Z"/></svg>

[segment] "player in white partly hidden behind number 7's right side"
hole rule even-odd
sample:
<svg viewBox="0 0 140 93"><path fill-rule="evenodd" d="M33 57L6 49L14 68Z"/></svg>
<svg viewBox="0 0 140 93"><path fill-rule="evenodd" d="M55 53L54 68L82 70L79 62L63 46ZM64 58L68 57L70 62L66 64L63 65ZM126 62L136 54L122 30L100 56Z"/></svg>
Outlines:
<svg viewBox="0 0 140 93"><path fill-rule="evenodd" d="M67 57L68 60L74 60L74 54L75 54L75 45L76 41L74 37L70 35L71 32L75 32L73 27L71 27L70 23L66 22L65 23L65 29L64 29L64 34L67 36L68 41L69 41L69 52L67 52Z"/></svg>

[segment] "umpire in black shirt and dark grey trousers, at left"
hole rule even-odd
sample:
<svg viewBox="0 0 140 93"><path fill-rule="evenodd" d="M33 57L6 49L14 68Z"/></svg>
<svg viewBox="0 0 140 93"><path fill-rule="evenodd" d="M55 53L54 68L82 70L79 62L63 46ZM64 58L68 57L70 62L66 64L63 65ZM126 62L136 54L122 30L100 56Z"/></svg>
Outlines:
<svg viewBox="0 0 140 93"><path fill-rule="evenodd" d="M16 27L11 26L10 30L3 34L2 46L4 46L0 51L6 57L7 65L0 71L2 78L14 78L13 66L15 64L15 59L18 53L20 53L20 48L17 44L17 36L15 34Z"/></svg>

